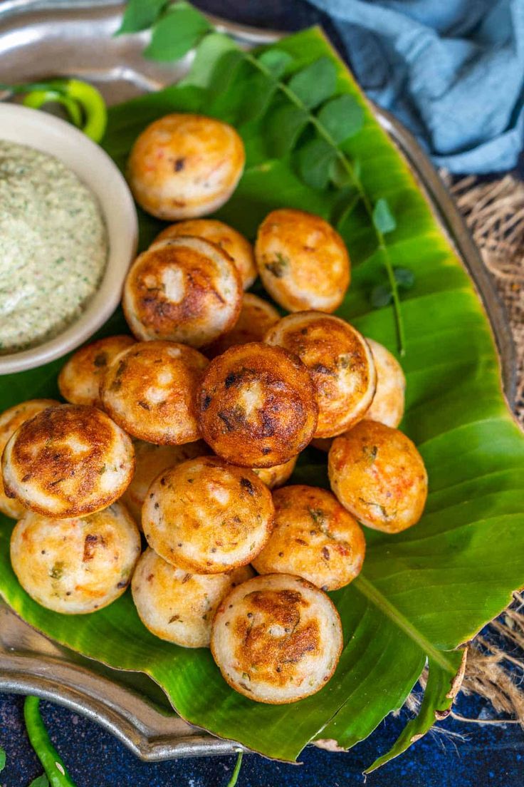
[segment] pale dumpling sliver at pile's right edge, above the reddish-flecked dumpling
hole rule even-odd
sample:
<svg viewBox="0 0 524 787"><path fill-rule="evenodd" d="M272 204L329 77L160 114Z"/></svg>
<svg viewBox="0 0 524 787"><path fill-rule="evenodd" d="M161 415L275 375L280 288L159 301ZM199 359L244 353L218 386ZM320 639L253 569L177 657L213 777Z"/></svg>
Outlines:
<svg viewBox="0 0 524 787"><path fill-rule="evenodd" d="M398 360L379 342L366 340L376 368L376 392L365 419L398 427L404 416L405 376Z"/></svg>

